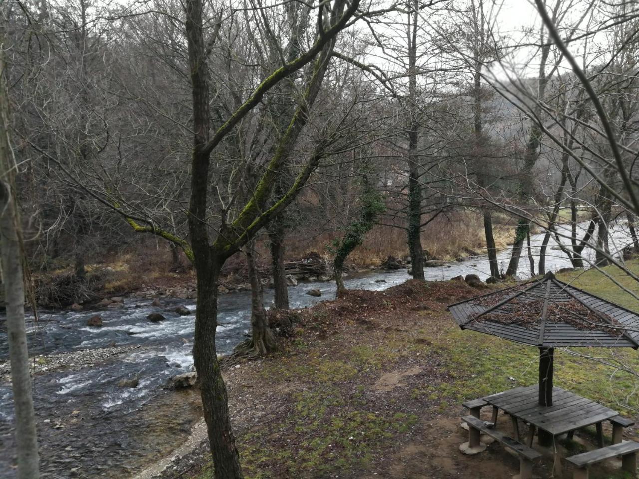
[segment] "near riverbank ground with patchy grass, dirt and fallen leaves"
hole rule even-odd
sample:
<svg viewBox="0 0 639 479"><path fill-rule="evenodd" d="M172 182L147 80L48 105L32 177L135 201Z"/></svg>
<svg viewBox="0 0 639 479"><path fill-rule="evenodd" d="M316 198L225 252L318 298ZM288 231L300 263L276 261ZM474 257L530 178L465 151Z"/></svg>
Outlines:
<svg viewBox="0 0 639 479"><path fill-rule="evenodd" d="M639 272L638 261L629 265ZM630 280L606 272L626 284ZM639 308L601 273L571 274L561 279ZM459 281L351 291L300 312L295 335L280 353L227 365L246 477L509 479L517 462L501 448L475 457L459 453L466 434L459 427L460 404L533 384L535 351L459 330L446 305L477 293ZM600 357L610 353L597 350ZM616 354L616 360L639 369L635 351ZM555 361L557 385L636 415L636 377L561 351ZM561 447L576 451L589 444L585 432ZM213 477L205 440L182 453L155 477ZM551 470L548 461L538 468L543 478Z"/></svg>

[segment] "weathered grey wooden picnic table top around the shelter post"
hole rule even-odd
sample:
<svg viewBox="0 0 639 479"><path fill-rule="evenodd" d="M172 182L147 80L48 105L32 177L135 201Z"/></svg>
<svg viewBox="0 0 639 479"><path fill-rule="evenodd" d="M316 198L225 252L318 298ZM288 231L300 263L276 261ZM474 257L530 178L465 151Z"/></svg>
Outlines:
<svg viewBox="0 0 639 479"><path fill-rule="evenodd" d="M550 432L553 436L581 429L619 414L592 399L586 399L556 386L553 387L553 405L539 406L538 388L537 384L519 387L482 399L516 418Z"/></svg>

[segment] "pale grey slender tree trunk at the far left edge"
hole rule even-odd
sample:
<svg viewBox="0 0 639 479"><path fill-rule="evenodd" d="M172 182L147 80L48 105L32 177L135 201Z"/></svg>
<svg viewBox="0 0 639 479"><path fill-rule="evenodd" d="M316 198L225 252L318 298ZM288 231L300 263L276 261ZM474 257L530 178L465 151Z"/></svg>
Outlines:
<svg viewBox="0 0 639 479"><path fill-rule="evenodd" d="M9 105L5 84L4 47L0 47L0 247L6 300L6 328L11 361L18 479L40 477L38 434L33 409L29 351L24 319L24 276L20 218L15 202L15 163L9 144Z"/></svg>

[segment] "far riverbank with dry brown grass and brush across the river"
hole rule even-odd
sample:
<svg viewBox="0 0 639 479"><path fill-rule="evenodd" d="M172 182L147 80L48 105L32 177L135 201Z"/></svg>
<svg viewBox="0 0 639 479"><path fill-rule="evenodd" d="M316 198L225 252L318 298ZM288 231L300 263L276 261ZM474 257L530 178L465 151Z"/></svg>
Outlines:
<svg viewBox="0 0 639 479"><path fill-rule="evenodd" d="M506 252L512 244L516 218L496 213L494 234L498 252ZM332 253L328 245L339 232L290 232L287 237L285 262L316 263L316 273L293 275L296 280L316 280L332 275ZM454 211L429 223L422 235L422 247L427 260L464 261L486 254L482 216L474 210ZM151 254L150 254L151 253ZM350 255L347 273L363 273L383 268L389 257L407 266L408 249L404 229L376 225ZM98 260L98 258L95 258ZM256 242L256 263L265 284L270 280L268 238ZM33 293L40 307L75 310L92 308L112 297L135 296L155 298L166 296L183 300L194 299L195 275L189 262L178 255L177 260L164 247L151 243L131 246L127 252L99 258L86 265L85 275L78 278L72 266L38 271L33 274ZM295 269L295 268L293 268ZM249 289L248 270L242 254L231 257L220 277L220 293Z"/></svg>

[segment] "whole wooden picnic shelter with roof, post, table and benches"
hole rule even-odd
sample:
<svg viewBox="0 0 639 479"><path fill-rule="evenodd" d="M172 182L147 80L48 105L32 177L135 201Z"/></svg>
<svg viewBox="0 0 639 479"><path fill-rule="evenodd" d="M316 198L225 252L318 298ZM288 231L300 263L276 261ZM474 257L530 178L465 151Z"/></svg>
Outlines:
<svg viewBox="0 0 639 479"><path fill-rule="evenodd" d="M520 386L464 403L471 415L463 418L470 427L468 443L460 446L463 452L477 453L486 448L479 441L479 430L483 430L511 449L520 450L521 477L524 478L530 477L530 459L537 455L530 449L535 431L538 432L539 443L550 446L560 434L571 437L575 430L596 425L597 442L601 448L602 423L608 420L613 426L612 442L616 444L622 441L622 430L633 425L632 420L622 418L617 411L594 400L553 387L553 352L555 347L637 349L639 315L636 312L561 282L552 273L541 279L455 303L448 308L463 330L478 331L539 348L538 384ZM516 439L486 429L481 422L477 422L483 406L493 407L494 425L499 410L509 414ZM519 442L520 420L529 425L527 445ZM633 444L633 447L637 446ZM612 452L617 453L617 450ZM627 468L632 469L631 466Z"/></svg>

